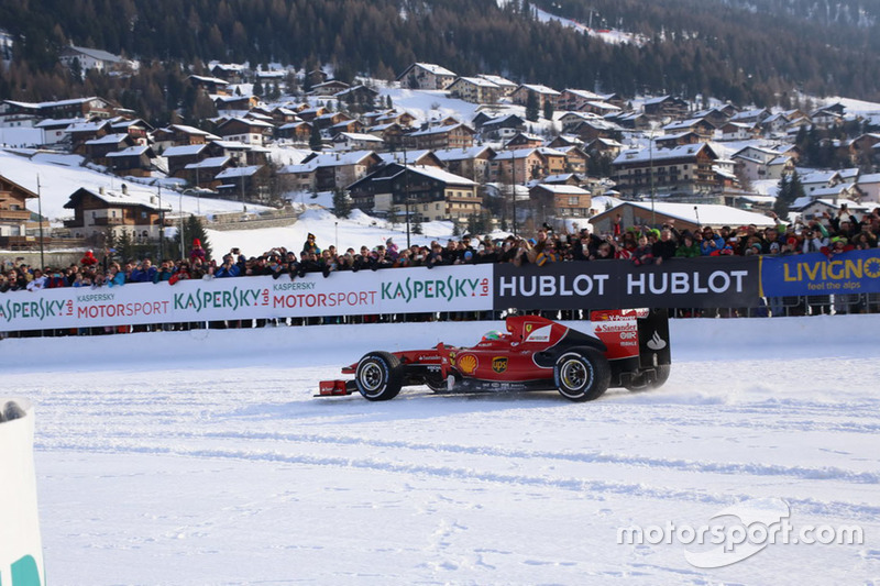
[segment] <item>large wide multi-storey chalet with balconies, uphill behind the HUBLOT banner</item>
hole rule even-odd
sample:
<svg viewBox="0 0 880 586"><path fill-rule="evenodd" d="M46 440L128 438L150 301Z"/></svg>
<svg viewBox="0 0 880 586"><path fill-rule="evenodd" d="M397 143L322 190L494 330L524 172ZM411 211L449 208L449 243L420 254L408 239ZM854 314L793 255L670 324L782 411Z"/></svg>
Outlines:
<svg viewBox="0 0 880 586"><path fill-rule="evenodd" d="M649 195L651 189L679 197L707 195L716 187L717 158L706 143L629 150L612 162L612 178L618 191L632 196Z"/></svg>

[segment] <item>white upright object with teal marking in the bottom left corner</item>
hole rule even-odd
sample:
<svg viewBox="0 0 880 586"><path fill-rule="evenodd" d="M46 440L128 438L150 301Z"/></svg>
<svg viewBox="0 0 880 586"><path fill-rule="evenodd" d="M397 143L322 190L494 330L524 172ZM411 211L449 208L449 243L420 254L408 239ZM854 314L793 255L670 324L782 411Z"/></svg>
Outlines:
<svg viewBox="0 0 880 586"><path fill-rule="evenodd" d="M34 410L26 399L0 397L0 584L42 586L43 545L36 510Z"/></svg>

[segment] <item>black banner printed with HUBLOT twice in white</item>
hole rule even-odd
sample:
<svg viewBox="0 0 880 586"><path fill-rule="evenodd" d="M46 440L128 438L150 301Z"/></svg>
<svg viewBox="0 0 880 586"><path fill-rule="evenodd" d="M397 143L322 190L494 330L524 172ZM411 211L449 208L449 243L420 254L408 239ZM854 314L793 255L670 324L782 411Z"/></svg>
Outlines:
<svg viewBox="0 0 880 586"><path fill-rule="evenodd" d="M671 258L495 266L495 308L712 308L758 305L757 257Z"/></svg>

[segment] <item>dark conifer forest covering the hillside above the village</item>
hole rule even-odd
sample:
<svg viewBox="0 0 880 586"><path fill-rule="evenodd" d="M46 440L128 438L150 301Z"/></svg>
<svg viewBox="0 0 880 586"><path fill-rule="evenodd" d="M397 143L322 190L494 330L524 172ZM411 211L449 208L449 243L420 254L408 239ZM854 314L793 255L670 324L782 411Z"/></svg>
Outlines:
<svg viewBox="0 0 880 586"><path fill-rule="evenodd" d="M795 92L880 99L880 9L858 0L537 0L554 14L644 35L607 44L541 22L522 0L6 0L13 40L0 99L99 93L154 121L191 106L182 79L222 62L331 64L393 79L415 60L556 88L697 95L789 106ZM72 76L67 44L139 59L131 77Z"/></svg>

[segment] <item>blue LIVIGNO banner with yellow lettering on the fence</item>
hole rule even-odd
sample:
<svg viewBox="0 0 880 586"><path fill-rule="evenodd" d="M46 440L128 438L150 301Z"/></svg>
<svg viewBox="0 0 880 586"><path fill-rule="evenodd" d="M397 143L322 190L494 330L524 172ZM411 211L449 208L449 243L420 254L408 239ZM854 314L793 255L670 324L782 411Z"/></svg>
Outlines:
<svg viewBox="0 0 880 586"><path fill-rule="evenodd" d="M766 297L880 292L880 251L850 251L828 258L822 253L765 256L761 288Z"/></svg>

